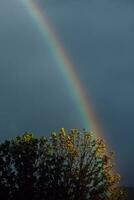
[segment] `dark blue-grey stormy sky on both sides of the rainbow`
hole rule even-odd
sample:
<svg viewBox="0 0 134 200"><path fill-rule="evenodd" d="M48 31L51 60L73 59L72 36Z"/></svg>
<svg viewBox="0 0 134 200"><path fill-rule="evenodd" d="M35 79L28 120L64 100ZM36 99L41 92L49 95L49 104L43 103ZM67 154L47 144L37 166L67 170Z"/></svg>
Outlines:
<svg viewBox="0 0 134 200"><path fill-rule="evenodd" d="M72 59L123 182L134 185L134 3L39 0ZM21 0L0 1L0 138L82 127L54 58Z"/></svg>

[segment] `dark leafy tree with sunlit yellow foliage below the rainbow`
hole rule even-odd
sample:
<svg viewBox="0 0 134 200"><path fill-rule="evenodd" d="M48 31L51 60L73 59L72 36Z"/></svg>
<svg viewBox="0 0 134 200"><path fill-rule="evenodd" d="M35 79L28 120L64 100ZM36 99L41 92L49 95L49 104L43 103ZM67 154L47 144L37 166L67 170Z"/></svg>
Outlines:
<svg viewBox="0 0 134 200"><path fill-rule="evenodd" d="M0 199L122 200L112 157L90 132L26 132L0 144Z"/></svg>

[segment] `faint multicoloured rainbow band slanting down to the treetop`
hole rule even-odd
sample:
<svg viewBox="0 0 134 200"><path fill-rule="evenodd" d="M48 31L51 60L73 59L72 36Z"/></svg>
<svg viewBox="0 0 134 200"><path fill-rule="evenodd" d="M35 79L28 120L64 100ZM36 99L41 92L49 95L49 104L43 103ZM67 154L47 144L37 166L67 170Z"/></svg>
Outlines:
<svg viewBox="0 0 134 200"><path fill-rule="evenodd" d="M47 41L51 55L55 57L56 62L58 63L59 71L68 85L68 91L80 113L84 128L94 132L98 136L102 136L102 129L100 128L98 120L96 120L92 108L93 106L82 88L75 67L70 61L58 36L47 19L45 11L42 10L37 2L33 0L22 0L22 2L24 2L28 13L31 15L38 29L42 33L44 41Z"/></svg>

